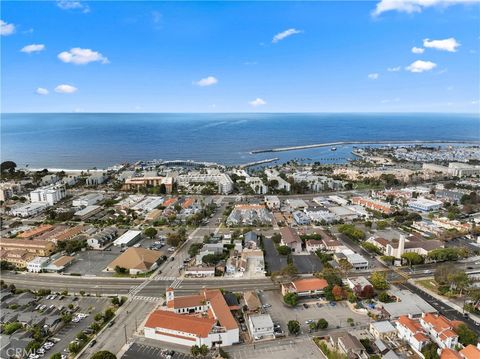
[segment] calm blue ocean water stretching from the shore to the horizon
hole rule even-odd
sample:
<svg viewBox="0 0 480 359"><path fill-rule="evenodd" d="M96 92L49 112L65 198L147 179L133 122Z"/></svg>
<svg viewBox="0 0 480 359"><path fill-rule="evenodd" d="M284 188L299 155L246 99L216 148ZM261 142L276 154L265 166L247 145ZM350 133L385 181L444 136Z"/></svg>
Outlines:
<svg viewBox="0 0 480 359"><path fill-rule="evenodd" d="M31 168L84 169L150 159L241 164L279 157L342 162L351 146L256 149L364 140L479 140L465 114L3 114L1 158Z"/></svg>

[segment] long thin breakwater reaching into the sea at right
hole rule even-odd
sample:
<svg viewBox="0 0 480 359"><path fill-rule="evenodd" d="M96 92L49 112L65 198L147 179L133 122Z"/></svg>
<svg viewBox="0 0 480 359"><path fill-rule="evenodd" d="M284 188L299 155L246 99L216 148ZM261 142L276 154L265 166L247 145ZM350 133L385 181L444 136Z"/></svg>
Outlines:
<svg viewBox="0 0 480 359"><path fill-rule="evenodd" d="M270 148L264 150L253 150L250 154L254 155L257 153L266 153L266 152L286 152L286 151L298 151L298 150L307 150L310 148L319 148L319 147L335 147L335 146L344 146L344 145L422 145L427 143L458 143L458 144L480 144L480 141L452 141L452 140L414 140L414 141L340 141L340 142L329 142L329 143L315 143L312 145L301 145L301 146L290 146L290 147L278 147Z"/></svg>

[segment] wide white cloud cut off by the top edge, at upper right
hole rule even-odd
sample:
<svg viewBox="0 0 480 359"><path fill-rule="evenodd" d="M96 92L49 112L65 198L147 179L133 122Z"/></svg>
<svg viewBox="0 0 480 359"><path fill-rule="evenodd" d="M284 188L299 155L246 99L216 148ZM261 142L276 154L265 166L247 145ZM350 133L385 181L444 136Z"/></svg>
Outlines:
<svg viewBox="0 0 480 359"><path fill-rule="evenodd" d="M375 10L372 11L373 16L378 16L387 11L398 11L412 14L422 12L423 9L434 6L447 7L455 4L475 3L478 0L380 0Z"/></svg>

